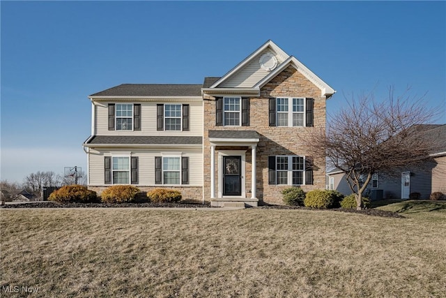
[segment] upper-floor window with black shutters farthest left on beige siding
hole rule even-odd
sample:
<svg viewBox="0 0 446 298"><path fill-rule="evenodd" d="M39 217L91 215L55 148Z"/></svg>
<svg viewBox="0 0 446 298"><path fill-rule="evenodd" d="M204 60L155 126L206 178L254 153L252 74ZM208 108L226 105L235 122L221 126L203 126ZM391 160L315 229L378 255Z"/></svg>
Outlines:
<svg viewBox="0 0 446 298"><path fill-rule="evenodd" d="M109 103L109 131L140 131L141 105Z"/></svg>

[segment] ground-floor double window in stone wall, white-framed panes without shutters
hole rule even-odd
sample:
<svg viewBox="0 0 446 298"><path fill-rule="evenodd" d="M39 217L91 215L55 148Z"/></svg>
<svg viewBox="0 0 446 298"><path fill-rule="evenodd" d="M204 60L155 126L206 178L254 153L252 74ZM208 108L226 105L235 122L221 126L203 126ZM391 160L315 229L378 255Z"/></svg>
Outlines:
<svg viewBox="0 0 446 298"><path fill-rule="evenodd" d="M305 177L303 156L276 156L277 184L302 185Z"/></svg>

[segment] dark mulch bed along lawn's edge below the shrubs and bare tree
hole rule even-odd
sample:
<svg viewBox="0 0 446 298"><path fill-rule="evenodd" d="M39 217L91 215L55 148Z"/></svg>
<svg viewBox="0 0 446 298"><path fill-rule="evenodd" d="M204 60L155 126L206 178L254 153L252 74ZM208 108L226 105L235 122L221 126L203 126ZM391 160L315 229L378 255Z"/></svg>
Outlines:
<svg viewBox="0 0 446 298"><path fill-rule="evenodd" d="M145 207L164 207L164 208L210 208L209 203L201 204L197 202L181 202L181 203L153 203L153 202L140 202L140 203L58 203L58 202L29 202L25 204L6 204L1 206L1 208L145 208ZM219 208L219 207L215 207ZM397 214L391 211L383 211L378 209L312 209L300 206L286 206L286 205L270 205L263 204L259 207L254 207L256 209L307 209L307 210L330 210L330 211L341 211L350 212L356 214L364 214L371 216L383 216L383 217L393 217L393 218L404 218L401 214Z"/></svg>

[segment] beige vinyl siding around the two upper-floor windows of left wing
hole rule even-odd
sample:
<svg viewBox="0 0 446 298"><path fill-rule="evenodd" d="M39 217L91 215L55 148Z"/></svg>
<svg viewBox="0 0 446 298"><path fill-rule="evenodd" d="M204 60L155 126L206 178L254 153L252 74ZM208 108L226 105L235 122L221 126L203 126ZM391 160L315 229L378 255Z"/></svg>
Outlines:
<svg viewBox="0 0 446 298"><path fill-rule="evenodd" d="M119 103L118 100L113 103ZM134 103L141 103L135 101ZM188 104L189 131L157 131L156 105L162 102L141 103L141 131L109 131L108 103L96 104L95 131L96 135L203 135L203 103L200 102L169 102L167 104Z"/></svg>

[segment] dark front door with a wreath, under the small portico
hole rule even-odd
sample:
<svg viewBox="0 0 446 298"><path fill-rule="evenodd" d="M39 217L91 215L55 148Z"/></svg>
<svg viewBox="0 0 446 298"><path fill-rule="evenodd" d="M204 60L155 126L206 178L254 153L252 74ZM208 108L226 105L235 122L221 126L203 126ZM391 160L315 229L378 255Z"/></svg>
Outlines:
<svg viewBox="0 0 446 298"><path fill-rule="evenodd" d="M241 195L241 157L223 156L223 195Z"/></svg>

